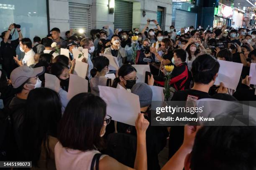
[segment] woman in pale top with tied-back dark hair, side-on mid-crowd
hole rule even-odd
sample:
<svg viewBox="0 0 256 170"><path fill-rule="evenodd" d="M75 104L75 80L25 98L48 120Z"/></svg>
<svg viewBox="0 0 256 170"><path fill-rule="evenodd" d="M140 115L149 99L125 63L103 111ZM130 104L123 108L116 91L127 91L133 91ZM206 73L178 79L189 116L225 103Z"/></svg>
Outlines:
<svg viewBox="0 0 256 170"><path fill-rule="evenodd" d="M105 77L109 72L109 60L107 57L98 56L94 61L94 68L91 70L92 79L90 81L91 92L94 95L100 96L99 85L111 86L112 80Z"/></svg>

